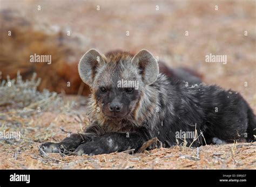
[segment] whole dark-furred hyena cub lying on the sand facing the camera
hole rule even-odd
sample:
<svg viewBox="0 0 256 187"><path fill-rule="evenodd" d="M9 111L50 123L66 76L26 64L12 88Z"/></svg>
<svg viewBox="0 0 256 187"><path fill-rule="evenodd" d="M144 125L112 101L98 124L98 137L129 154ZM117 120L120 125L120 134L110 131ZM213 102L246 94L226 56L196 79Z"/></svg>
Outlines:
<svg viewBox="0 0 256 187"><path fill-rule="evenodd" d="M59 143L44 143L45 152L97 155L138 150L154 137L165 147L254 141L255 115L238 92L216 85L187 87L159 73L157 60L145 49L136 55L106 56L91 49L78 70L92 91L91 125ZM151 148L155 146L158 143Z"/></svg>

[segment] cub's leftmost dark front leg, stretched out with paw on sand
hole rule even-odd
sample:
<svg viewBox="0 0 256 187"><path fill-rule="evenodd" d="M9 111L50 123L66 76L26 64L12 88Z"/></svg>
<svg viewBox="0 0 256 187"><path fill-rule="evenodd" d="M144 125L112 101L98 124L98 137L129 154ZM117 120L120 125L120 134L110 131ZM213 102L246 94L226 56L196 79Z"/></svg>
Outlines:
<svg viewBox="0 0 256 187"><path fill-rule="evenodd" d="M71 134L68 138L58 143L43 143L40 148L45 153L69 153L75 150L83 141L84 138L81 134Z"/></svg>

